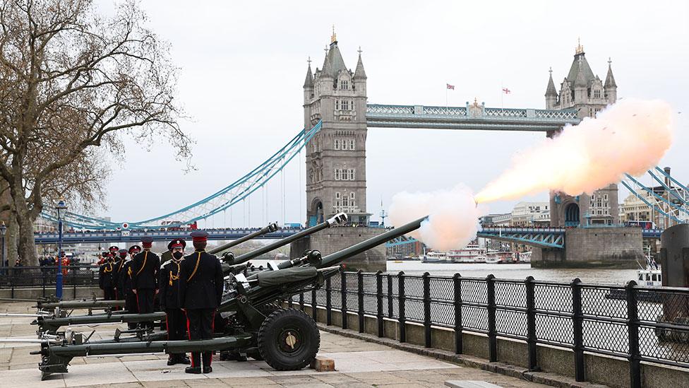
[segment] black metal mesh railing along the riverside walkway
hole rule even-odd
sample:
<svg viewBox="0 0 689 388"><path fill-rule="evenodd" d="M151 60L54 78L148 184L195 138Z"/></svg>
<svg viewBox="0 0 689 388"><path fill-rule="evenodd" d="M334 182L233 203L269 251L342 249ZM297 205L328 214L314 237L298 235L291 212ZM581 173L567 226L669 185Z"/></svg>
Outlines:
<svg viewBox="0 0 689 388"><path fill-rule="evenodd" d="M357 314L359 332L365 317L375 318L380 337L383 322L395 320L401 342L407 341L405 322L421 324L426 347L433 327L485 334L491 362L498 359L498 337L524 341L531 370L538 368L538 344L568 348L575 353L577 381L585 380L585 352L626 358L633 387L640 387L642 361L689 368L688 288L359 271L328 278L324 287L297 298L302 309L324 307L326 324L332 324L332 311L341 312L344 329L348 313ZM454 347L462 353L461 335Z"/></svg>

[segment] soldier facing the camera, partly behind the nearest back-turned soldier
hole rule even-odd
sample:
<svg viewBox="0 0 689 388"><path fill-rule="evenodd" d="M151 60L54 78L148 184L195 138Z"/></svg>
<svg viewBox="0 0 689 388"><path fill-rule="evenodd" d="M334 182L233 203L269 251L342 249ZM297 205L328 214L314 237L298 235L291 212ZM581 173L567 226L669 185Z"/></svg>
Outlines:
<svg viewBox="0 0 689 388"><path fill-rule="evenodd" d="M179 303L179 269L184 260L184 240L175 239L168 245L167 249L172 252L171 259L164 261L160 266L160 277L158 286L160 287L160 309L165 312L165 324L167 325L167 339L180 340L186 336L186 315L181 310ZM167 365L176 363L190 364L189 358L185 353L170 354Z"/></svg>

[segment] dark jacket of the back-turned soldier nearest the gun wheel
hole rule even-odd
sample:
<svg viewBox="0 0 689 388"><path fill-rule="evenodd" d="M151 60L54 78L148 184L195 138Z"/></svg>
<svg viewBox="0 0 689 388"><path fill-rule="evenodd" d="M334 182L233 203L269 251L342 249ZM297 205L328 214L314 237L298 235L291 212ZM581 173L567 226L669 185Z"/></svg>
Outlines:
<svg viewBox="0 0 689 388"><path fill-rule="evenodd" d="M205 251L184 257L180 264L179 300L187 309L210 309L220 305L222 268L220 260Z"/></svg>

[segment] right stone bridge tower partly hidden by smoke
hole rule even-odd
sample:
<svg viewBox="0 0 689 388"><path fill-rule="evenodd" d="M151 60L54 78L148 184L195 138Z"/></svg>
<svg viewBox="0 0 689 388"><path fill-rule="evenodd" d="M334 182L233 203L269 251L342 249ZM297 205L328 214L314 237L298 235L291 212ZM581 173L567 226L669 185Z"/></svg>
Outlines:
<svg viewBox="0 0 689 388"><path fill-rule="evenodd" d="M577 45L570 71L560 84L560 92L558 93L553 83L551 69L545 97L546 109L575 109L580 119L596 117L606 105L617 100L617 84L611 61L608 60L608 74L603 83L591 70L584 47ZM549 132L548 137L557 136L558 133L559 131ZM617 184L597 190L590 196L568 196L551 192L550 208L552 226L610 225L620 222Z"/></svg>

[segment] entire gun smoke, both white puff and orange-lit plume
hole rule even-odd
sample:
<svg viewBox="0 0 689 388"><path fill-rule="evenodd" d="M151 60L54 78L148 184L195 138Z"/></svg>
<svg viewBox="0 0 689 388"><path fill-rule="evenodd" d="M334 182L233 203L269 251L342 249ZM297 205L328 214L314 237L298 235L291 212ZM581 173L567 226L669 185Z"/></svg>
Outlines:
<svg viewBox="0 0 689 388"><path fill-rule="evenodd" d="M476 196L462 184L450 191L396 194L390 223L400 226L429 215L412 237L441 251L461 249L476 236L479 216L487 213L482 203L549 189L592 193L619 182L625 172L642 175L670 147L671 121L666 102L623 100L517 154L513 165Z"/></svg>

